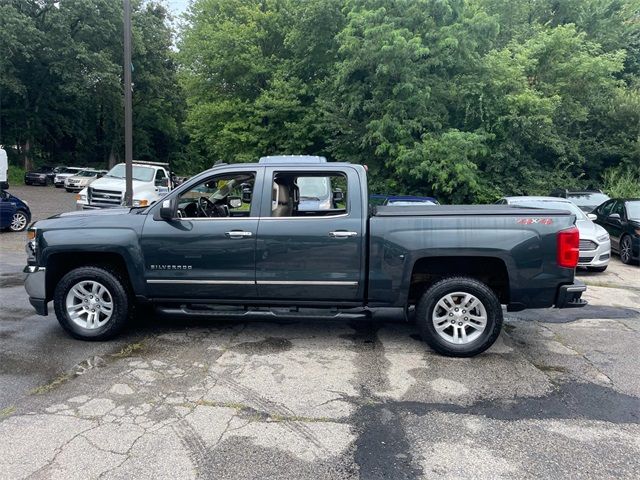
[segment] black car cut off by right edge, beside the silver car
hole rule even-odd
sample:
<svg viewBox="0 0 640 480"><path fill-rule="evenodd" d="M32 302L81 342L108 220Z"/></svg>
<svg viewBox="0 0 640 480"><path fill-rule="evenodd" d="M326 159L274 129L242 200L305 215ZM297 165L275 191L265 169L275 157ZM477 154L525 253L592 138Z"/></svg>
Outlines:
<svg viewBox="0 0 640 480"><path fill-rule="evenodd" d="M611 250L620 254L622 263L640 259L640 198L614 198L593 211L594 222L602 225L611 237Z"/></svg>

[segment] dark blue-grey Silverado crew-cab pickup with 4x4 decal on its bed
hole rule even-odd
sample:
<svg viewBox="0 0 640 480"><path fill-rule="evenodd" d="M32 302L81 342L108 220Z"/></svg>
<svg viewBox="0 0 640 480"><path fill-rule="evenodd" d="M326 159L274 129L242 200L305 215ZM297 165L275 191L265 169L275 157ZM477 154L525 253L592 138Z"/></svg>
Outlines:
<svg viewBox="0 0 640 480"><path fill-rule="evenodd" d="M217 165L146 208L70 212L28 231L31 304L72 336L116 335L134 306L170 315L415 317L437 352L472 356L503 310L581 307L575 216L491 206L378 207L349 163ZM299 184L339 186L319 210ZM414 311L415 309L415 311ZM317 314L317 313L316 313Z"/></svg>

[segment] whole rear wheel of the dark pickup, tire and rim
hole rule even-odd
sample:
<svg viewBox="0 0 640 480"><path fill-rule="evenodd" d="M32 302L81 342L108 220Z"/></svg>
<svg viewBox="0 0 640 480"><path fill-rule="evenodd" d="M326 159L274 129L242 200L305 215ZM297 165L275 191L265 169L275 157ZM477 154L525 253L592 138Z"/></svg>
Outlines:
<svg viewBox="0 0 640 480"><path fill-rule="evenodd" d="M416 323L436 352L472 357L500 335L502 307L496 294L472 278L452 277L429 287L418 302Z"/></svg>

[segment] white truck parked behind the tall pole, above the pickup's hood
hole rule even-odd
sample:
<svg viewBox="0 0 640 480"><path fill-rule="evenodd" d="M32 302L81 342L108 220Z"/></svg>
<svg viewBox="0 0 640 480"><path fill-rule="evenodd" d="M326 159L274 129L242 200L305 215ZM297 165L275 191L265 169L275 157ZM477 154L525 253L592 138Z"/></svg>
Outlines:
<svg viewBox="0 0 640 480"><path fill-rule="evenodd" d="M146 207L171 191L169 164L133 162L133 206ZM76 195L76 209L113 208L124 205L125 164L119 163L102 178Z"/></svg>

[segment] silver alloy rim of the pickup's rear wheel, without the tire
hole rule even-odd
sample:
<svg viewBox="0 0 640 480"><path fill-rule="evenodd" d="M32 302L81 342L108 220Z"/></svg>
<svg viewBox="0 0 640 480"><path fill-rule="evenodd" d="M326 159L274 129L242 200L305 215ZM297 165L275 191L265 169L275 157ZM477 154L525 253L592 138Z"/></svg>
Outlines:
<svg viewBox="0 0 640 480"><path fill-rule="evenodd" d="M466 345L484 332L487 310L470 293L448 293L436 303L431 320L440 337L456 345Z"/></svg>

